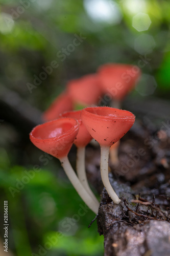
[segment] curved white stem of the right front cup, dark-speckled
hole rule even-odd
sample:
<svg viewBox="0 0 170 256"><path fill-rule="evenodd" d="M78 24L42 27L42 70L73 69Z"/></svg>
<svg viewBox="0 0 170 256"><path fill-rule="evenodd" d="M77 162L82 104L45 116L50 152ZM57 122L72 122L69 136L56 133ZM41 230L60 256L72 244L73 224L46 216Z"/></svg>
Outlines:
<svg viewBox="0 0 170 256"><path fill-rule="evenodd" d="M109 181L109 175L108 175L109 150L110 150L109 146L101 146L101 177L110 198L113 200L115 204L119 204L120 199L117 197Z"/></svg>

